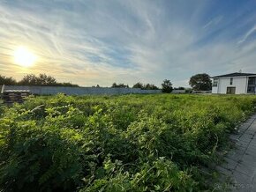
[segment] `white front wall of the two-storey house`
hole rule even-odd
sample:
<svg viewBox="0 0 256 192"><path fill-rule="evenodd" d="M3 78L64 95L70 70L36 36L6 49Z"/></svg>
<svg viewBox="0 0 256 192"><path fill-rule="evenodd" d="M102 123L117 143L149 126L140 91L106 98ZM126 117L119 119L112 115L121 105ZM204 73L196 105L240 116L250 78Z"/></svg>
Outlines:
<svg viewBox="0 0 256 192"><path fill-rule="evenodd" d="M245 94L247 93L247 78L246 77L237 77L233 78L233 84L230 85L230 78L219 78L218 86L215 87L215 93L227 93L227 87L236 87L236 94ZM213 92L213 93L214 93Z"/></svg>

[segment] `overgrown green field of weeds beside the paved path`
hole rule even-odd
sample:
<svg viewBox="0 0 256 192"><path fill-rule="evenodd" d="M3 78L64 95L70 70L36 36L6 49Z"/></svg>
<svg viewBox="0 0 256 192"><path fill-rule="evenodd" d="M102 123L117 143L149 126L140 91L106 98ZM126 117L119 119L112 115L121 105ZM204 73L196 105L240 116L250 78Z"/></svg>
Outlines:
<svg viewBox="0 0 256 192"><path fill-rule="evenodd" d="M0 107L0 191L199 191L255 96L62 94Z"/></svg>

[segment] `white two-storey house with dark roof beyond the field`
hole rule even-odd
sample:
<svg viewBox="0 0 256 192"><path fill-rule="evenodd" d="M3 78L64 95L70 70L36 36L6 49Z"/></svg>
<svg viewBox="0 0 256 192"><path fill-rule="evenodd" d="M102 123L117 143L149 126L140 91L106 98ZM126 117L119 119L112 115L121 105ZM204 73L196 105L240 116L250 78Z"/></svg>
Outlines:
<svg viewBox="0 0 256 192"><path fill-rule="evenodd" d="M230 73L213 78L212 93L221 94L246 94L256 93L256 74Z"/></svg>

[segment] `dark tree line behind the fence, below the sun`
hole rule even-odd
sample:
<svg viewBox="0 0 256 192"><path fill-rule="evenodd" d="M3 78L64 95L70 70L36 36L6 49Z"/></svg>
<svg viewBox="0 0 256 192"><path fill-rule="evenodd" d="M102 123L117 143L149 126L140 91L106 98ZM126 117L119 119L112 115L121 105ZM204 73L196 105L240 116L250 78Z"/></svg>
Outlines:
<svg viewBox="0 0 256 192"><path fill-rule="evenodd" d="M20 81L14 78L8 78L0 75L0 85L40 85L40 86L79 86L72 83L59 83L56 78L48 76L46 74L28 74L24 76Z"/></svg>

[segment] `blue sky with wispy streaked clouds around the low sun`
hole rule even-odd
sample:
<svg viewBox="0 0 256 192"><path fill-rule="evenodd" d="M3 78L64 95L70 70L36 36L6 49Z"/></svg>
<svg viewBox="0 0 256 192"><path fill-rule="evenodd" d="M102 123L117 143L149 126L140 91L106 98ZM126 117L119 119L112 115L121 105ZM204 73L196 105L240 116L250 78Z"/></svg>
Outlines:
<svg viewBox="0 0 256 192"><path fill-rule="evenodd" d="M13 62L20 46L33 66ZM256 0L0 0L0 75L187 87L239 70L256 73Z"/></svg>

